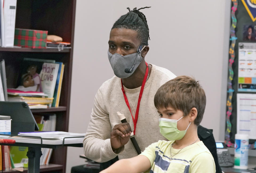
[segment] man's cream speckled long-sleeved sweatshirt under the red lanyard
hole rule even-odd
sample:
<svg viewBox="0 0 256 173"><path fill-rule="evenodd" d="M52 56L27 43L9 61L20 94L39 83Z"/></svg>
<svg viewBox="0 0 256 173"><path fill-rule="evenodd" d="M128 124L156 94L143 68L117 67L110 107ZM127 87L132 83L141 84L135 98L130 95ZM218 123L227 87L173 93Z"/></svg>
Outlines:
<svg viewBox="0 0 256 173"><path fill-rule="evenodd" d="M135 134L135 139L142 151L151 143L166 140L159 132L158 119L160 117L154 106L154 96L161 85L175 77L169 70L152 65L141 98ZM130 140L117 151L117 154L111 148L110 133L116 124L121 123L117 111L125 115L133 131L133 120L121 88L121 79L114 76L104 82L95 95L91 120L83 140L83 148L85 156L96 162L106 162L117 155L119 159L138 155ZM131 112L135 117L141 87L128 89L124 86L124 90Z"/></svg>

